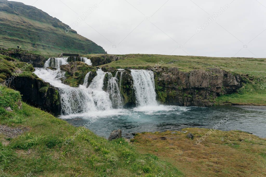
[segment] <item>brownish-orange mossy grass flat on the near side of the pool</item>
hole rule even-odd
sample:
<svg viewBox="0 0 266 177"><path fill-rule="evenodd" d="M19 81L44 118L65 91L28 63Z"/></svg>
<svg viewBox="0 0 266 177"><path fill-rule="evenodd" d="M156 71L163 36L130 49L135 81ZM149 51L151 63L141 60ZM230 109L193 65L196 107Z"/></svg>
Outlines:
<svg viewBox="0 0 266 177"><path fill-rule="evenodd" d="M197 139L209 129L183 131L188 132L139 133L132 141L140 153L150 153L173 164L185 176L266 175L265 139L242 131L217 130L197 145ZM186 137L189 132L193 133L193 140Z"/></svg>

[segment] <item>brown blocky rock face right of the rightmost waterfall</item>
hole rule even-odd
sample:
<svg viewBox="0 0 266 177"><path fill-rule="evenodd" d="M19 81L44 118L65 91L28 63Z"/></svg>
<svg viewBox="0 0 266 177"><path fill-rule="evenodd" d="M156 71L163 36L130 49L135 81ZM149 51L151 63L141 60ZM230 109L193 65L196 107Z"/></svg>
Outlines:
<svg viewBox="0 0 266 177"><path fill-rule="evenodd" d="M243 82L240 75L218 68L190 72L161 67L150 70L155 74L157 99L168 105L212 106L217 96L237 92Z"/></svg>

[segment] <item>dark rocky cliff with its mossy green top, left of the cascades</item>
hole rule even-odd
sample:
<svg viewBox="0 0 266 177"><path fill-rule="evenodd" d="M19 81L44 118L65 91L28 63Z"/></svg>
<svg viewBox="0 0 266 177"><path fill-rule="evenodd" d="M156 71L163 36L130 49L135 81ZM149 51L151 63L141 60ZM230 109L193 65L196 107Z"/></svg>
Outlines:
<svg viewBox="0 0 266 177"><path fill-rule="evenodd" d="M32 64L0 54L0 84L19 91L22 100L28 104L59 115L60 95L57 89L38 78L33 71Z"/></svg>

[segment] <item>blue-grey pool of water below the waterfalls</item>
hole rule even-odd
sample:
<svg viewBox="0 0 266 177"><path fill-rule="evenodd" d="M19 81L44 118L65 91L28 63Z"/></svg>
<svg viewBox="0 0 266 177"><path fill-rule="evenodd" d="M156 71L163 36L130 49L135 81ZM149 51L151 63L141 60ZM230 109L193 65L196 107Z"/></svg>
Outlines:
<svg viewBox="0 0 266 177"><path fill-rule="evenodd" d="M233 106L179 107L144 106L132 109L111 109L80 115L61 116L74 126L89 128L99 136L108 138L115 129L123 137L135 132L180 131L198 127L219 130L242 130L266 137L266 111Z"/></svg>

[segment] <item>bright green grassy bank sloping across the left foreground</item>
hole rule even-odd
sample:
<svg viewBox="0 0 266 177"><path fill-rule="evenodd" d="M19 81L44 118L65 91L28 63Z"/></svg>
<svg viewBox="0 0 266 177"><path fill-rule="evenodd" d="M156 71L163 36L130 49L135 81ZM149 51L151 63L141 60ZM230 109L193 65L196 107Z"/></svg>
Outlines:
<svg viewBox="0 0 266 177"><path fill-rule="evenodd" d="M0 125L29 130L14 138L0 134L0 176L182 176L125 139L107 141L26 103L18 109L20 99L19 92L0 86Z"/></svg>

